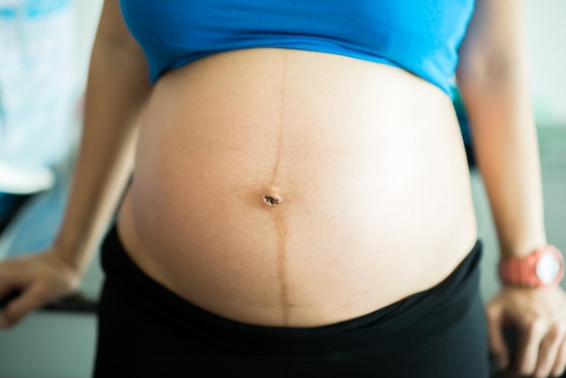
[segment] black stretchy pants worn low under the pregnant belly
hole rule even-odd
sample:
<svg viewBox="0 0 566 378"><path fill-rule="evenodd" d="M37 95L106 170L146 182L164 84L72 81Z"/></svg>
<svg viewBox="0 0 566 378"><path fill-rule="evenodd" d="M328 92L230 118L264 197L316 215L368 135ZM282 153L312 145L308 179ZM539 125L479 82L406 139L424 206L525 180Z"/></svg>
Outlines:
<svg viewBox="0 0 566 378"><path fill-rule="evenodd" d="M435 288L363 317L310 328L213 315L146 276L115 229L102 248L95 377L488 376L478 242Z"/></svg>

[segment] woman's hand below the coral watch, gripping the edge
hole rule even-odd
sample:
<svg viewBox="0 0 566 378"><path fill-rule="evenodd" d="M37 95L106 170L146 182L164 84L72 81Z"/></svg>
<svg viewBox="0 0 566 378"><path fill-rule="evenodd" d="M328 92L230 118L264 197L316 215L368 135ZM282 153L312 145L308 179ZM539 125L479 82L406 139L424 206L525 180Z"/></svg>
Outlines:
<svg viewBox="0 0 566 378"><path fill-rule="evenodd" d="M566 293L561 288L502 288L487 304L486 314L489 349L502 369L536 378L564 373ZM512 362L504 326L517 335Z"/></svg>

